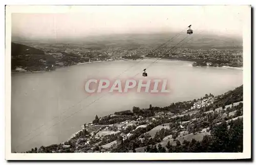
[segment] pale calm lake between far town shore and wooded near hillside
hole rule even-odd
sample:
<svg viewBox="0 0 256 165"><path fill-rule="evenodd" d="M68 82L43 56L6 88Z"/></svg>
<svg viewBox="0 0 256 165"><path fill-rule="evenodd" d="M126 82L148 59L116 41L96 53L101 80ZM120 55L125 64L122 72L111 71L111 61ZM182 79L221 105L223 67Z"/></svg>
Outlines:
<svg viewBox="0 0 256 165"><path fill-rule="evenodd" d="M150 104L167 106L201 98L205 93L220 95L243 83L240 69L193 67L189 61L159 60L147 69L148 77L142 77L141 70L154 61L105 61L62 67L54 72L13 73L12 152L62 143L96 114L103 116L133 106L148 108ZM167 79L170 93L89 96L84 90L84 83L91 78L127 79L135 75L137 79Z"/></svg>

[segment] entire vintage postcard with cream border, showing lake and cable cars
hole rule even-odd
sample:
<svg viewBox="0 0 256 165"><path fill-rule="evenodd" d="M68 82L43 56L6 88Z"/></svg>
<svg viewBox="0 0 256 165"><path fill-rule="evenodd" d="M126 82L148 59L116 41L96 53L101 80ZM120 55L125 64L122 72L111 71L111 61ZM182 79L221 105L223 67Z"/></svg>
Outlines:
<svg viewBox="0 0 256 165"><path fill-rule="evenodd" d="M6 6L6 158L251 158L250 23L249 5Z"/></svg>

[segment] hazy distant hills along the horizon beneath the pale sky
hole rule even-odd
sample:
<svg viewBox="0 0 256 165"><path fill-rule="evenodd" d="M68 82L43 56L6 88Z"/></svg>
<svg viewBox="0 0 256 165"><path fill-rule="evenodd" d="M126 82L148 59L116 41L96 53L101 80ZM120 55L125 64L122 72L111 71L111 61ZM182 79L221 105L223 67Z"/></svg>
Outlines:
<svg viewBox="0 0 256 165"><path fill-rule="evenodd" d="M44 42L44 43L69 43L69 44L88 44L93 47L100 48L123 48L123 49L137 49L137 48L154 48L158 45L175 37L178 33L154 33L154 34L112 34L101 36L88 36L84 38L51 40L26 40L22 38L13 38L13 41L26 42ZM184 40L183 40L184 39ZM174 39L170 40L167 47L172 47L179 43L177 48L190 49L242 49L243 39L239 37L227 37L212 34L197 34L188 35L184 32Z"/></svg>

